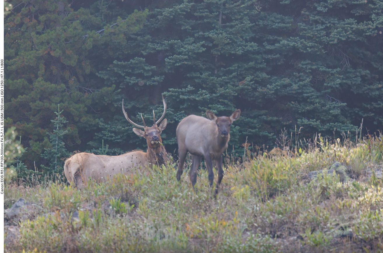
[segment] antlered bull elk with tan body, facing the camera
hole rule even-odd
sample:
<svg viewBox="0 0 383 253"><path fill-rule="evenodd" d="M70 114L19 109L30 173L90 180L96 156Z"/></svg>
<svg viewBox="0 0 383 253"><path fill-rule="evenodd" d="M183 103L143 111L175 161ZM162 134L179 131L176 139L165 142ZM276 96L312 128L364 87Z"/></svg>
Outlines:
<svg viewBox="0 0 383 253"><path fill-rule="evenodd" d="M155 121L155 115L153 110L153 126L149 127L145 125L144 118L141 118L144 123L143 126L137 125L131 121L128 114L124 109L124 100L122 100L122 111L126 120L138 128L143 128L141 131L137 128L133 128L134 133L138 136L146 138L147 151L131 151L119 156L105 156L91 153L77 153L67 159L64 164L64 173L68 182L74 182L77 189L82 189L86 185L88 178L96 180L98 182L105 181L108 177L118 173L133 173L139 167L144 168L148 164L161 165L165 163L166 150L162 145L161 132L167 125L165 117L166 103L164 96L162 96L162 102L164 103L164 113L157 122ZM157 124L161 122L159 126Z"/></svg>

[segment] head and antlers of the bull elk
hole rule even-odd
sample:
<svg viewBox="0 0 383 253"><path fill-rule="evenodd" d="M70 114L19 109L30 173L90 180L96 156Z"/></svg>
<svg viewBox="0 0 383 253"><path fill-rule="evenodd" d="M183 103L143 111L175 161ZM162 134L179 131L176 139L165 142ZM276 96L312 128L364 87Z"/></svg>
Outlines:
<svg viewBox="0 0 383 253"><path fill-rule="evenodd" d="M159 120L157 120L157 122L156 122L154 110L153 110L153 122L154 122L154 124L153 124L153 126L149 127L149 126L145 125L145 121L144 121L144 118L142 117L142 113L141 113L141 118L142 118L142 122L144 123L143 126L137 125L136 123L131 121L128 117L128 114L125 112L124 100L122 100L122 111L125 115L126 120L128 120L132 125L137 126L138 128L144 129L144 131L141 131L137 128L133 128L133 132L136 135L138 135L140 137L144 137L146 139L146 143L147 143L148 148L157 148L160 145L162 145L162 139L161 139L160 135L162 133L162 130L164 130L166 125L167 125L166 118L161 122L161 120L165 117L165 112L166 112L166 102L164 99L164 95L162 95L162 102L164 103L164 113L162 113L161 118ZM161 122L161 124L160 124L160 126L157 126L157 124L159 122Z"/></svg>

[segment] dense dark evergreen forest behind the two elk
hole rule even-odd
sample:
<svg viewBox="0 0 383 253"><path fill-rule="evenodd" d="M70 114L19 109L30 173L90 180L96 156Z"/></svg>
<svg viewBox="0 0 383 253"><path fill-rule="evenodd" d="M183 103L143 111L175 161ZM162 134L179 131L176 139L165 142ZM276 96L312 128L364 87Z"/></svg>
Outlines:
<svg viewBox="0 0 383 253"><path fill-rule="evenodd" d="M246 141L275 146L281 131L290 141L298 131L355 136L362 118L363 134L383 129L383 1L10 3L5 128L21 136L25 169L54 171L54 157L102 152L102 141L109 155L146 150L121 101L140 124L140 113L146 122L162 114L161 94L173 154L178 122L207 109L241 109L230 153Z"/></svg>

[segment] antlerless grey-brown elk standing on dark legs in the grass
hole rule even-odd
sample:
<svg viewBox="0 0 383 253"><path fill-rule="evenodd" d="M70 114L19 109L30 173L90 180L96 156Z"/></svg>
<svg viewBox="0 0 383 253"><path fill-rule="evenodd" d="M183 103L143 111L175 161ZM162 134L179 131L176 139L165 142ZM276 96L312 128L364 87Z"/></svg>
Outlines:
<svg viewBox="0 0 383 253"><path fill-rule="evenodd" d="M239 118L241 110L236 110L230 117L217 117L213 112L207 110L204 118L189 115L177 126L178 143L178 171L177 180L180 181L185 163L186 154L189 151L192 158L189 177L194 189L197 181L197 169L201 163L202 156L205 158L206 168L209 173L209 184L213 185L213 161L218 169L218 181L214 191L214 198L218 193L219 184L223 178L222 153L228 148L230 139L230 125Z"/></svg>

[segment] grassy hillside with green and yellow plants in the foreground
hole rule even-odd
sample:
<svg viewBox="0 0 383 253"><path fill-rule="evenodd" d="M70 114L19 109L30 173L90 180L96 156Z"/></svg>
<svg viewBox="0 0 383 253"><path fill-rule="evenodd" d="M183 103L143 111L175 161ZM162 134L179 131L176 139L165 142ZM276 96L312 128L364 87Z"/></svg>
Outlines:
<svg viewBox="0 0 383 253"><path fill-rule="evenodd" d="M7 252L375 252L383 245L382 137L229 162L219 189L199 171L194 192L173 165L119 175L79 191L59 182L8 184L5 208L20 197L41 206L19 223ZM295 153L295 155L294 155ZM289 155L290 154L290 155ZM353 181L308 172L344 163ZM233 165L234 164L234 165ZM190 164L189 164L190 165ZM217 177L215 177L216 179ZM73 218L75 212L78 218ZM10 222L10 221L8 221Z"/></svg>

